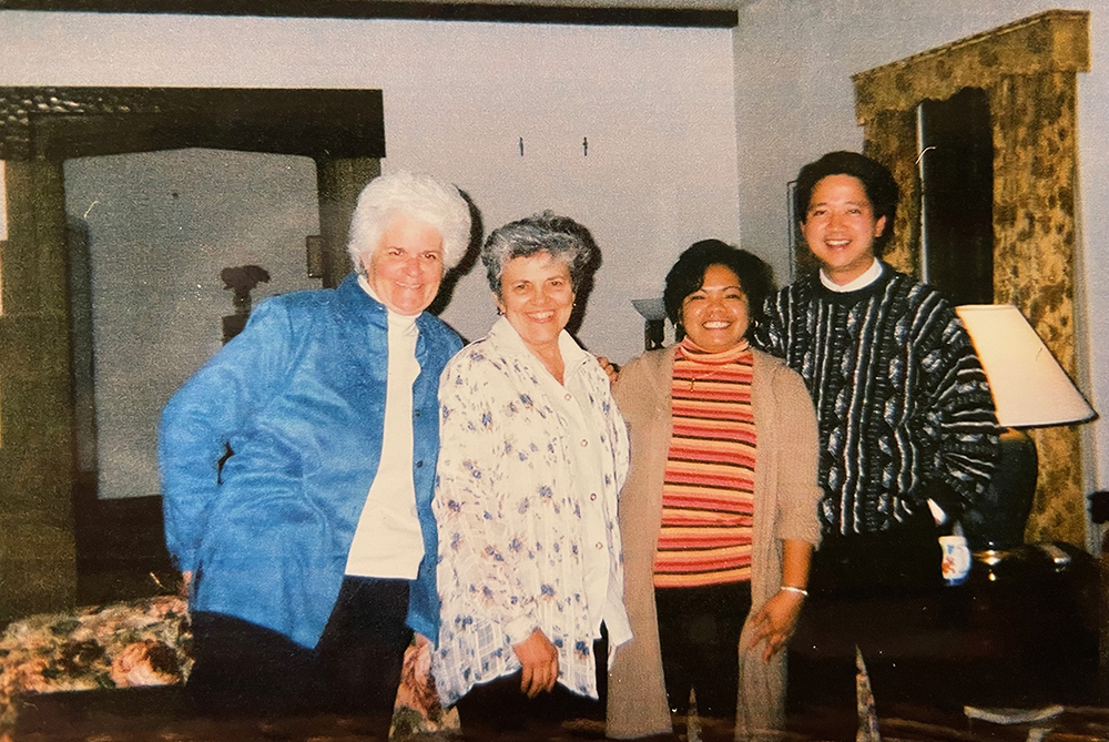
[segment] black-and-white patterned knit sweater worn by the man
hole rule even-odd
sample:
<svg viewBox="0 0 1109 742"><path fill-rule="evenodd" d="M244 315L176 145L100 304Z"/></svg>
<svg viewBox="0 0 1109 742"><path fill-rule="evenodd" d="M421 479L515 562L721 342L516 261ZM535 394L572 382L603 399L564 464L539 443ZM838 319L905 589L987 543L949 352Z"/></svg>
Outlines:
<svg viewBox="0 0 1109 742"><path fill-rule="evenodd" d="M933 499L958 517L989 484L997 419L948 302L883 264L835 293L817 275L771 296L754 345L800 373L820 427L828 536L896 528Z"/></svg>

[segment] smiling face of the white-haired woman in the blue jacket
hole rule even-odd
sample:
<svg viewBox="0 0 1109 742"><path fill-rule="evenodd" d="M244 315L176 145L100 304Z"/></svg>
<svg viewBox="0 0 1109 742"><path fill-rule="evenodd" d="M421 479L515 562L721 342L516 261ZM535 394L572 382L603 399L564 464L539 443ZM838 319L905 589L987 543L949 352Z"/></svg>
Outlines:
<svg viewBox="0 0 1109 742"><path fill-rule="evenodd" d="M419 314L439 292L442 237L430 224L398 214L364 265L366 281L385 306L397 314Z"/></svg>

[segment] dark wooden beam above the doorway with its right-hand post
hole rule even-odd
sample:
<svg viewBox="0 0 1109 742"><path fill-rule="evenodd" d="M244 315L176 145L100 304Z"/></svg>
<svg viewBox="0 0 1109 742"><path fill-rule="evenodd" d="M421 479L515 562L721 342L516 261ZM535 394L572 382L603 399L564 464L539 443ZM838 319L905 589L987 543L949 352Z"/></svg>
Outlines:
<svg viewBox="0 0 1109 742"><path fill-rule="evenodd" d="M324 285L337 284L354 196L378 171L366 161L385 156L380 90L0 88L0 160L194 146L312 157L332 257Z"/></svg>

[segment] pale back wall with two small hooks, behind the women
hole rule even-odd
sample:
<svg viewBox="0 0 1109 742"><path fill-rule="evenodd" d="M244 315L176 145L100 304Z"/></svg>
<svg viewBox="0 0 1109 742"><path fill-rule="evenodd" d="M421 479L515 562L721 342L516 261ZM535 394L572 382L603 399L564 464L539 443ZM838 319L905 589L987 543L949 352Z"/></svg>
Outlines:
<svg viewBox="0 0 1109 742"><path fill-rule="evenodd" d="M385 172L451 180L487 230L542 209L590 227L581 338L618 360L642 347L629 299L739 235L732 54L731 29L0 13L0 84L381 89ZM476 338L494 317L474 271L444 318Z"/></svg>

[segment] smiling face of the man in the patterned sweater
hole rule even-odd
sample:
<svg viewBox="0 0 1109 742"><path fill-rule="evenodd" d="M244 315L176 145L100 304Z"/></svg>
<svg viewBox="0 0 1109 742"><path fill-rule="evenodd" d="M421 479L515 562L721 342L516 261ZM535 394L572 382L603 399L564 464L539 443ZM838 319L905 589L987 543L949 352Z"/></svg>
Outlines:
<svg viewBox="0 0 1109 742"><path fill-rule="evenodd" d="M801 233L824 273L844 285L871 267L874 238L885 226L885 216L874 218L874 207L861 180L828 175L813 189Z"/></svg>

